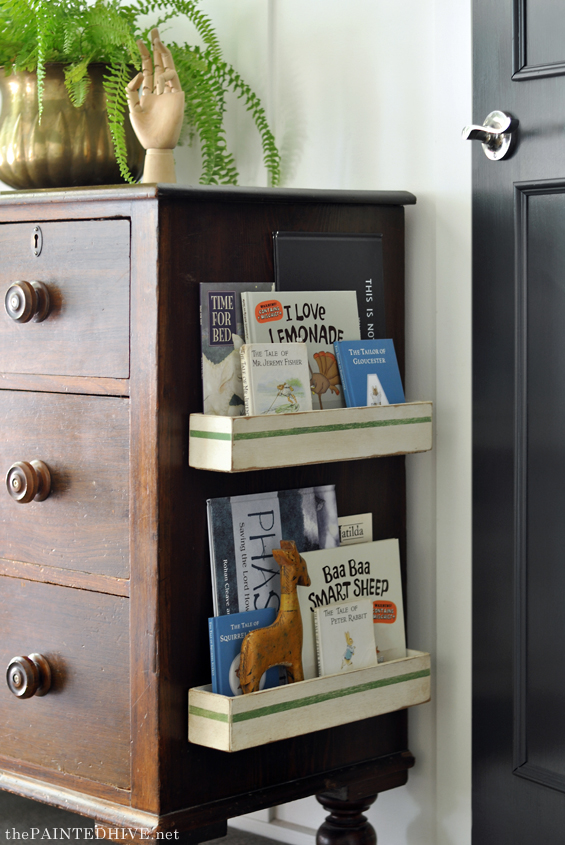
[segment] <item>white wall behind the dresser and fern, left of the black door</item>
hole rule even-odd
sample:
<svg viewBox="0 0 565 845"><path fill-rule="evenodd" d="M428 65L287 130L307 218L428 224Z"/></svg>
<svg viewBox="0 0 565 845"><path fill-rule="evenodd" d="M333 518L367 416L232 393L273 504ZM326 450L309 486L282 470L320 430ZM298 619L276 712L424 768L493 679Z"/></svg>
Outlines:
<svg viewBox="0 0 565 845"><path fill-rule="evenodd" d="M470 0L203 0L226 58L262 97L287 187L404 189L406 393L433 399L434 451L408 467L409 644L434 659L410 713L407 786L369 811L380 845L468 845L471 830ZM190 39L194 38L186 28ZM166 32L162 33L166 42ZM180 40L175 27L175 38ZM241 108L228 137L241 183L264 185ZM198 181L198 148L176 153ZM233 821L313 845L315 799ZM269 821L270 819L270 821Z"/></svg>

